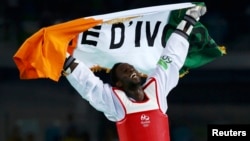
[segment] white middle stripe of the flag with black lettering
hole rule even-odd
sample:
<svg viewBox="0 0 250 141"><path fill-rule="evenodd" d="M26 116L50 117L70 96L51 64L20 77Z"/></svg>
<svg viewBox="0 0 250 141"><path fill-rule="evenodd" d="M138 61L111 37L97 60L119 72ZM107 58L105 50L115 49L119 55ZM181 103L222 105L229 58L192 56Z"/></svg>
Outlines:
<svg viewBox="0 0 250 141"><path fill-rule="evenodd" d="M88 67L111 68L116 62L127 62L148 74L156 67L165 47L162 41L170 12L192 6L192 3L181 3L92 16L109 20L140 15L121 24L102 24L79 34L73 55Z"/></svg>

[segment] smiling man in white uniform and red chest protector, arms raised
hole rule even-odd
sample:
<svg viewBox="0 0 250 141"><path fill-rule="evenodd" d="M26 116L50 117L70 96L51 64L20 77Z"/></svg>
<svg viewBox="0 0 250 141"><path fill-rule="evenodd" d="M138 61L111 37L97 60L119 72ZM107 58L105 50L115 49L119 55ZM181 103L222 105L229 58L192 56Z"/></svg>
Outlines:
<svg viewBox="0 0 250 141"><path fill-rule="evenodd" d="M206 7L186 11L184 19L167 41L154 72L142 84L141 74L126 62L110 71L111 84L104 83L82 62L67 55L63 74L94 108L116 122L120 141L170 141L166 97L177 85L179 70L188 49L193 26Z"/></svg>

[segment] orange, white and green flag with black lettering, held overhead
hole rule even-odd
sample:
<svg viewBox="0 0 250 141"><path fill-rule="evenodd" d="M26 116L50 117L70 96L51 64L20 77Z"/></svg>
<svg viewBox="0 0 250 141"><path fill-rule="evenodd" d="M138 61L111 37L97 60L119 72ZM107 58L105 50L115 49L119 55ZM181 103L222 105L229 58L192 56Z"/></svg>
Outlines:
<svg viewBox="0 0 250 141"><path fill-rule="evenodd" d="M90 69L109 70L116 62L134 65L144 74L157 64L169 35L187 8L204 3L178 3L95 15L44 27L29 37L13 59L21 79L58 81L66 52ZM180 75L223 56L223 48L204 25L195 25ZM95 69L93 69L95 70Z"/></svg>

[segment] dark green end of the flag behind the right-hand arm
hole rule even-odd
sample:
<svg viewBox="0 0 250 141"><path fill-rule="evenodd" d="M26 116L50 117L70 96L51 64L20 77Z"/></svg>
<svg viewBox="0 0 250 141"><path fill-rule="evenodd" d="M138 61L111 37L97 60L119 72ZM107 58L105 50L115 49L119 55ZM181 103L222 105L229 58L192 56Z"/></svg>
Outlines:
<svg viewBox="0 0 250 141"><path fill-rule="evenodd" d="M180 23L185 15L185 12L186 10L175 10L171 12L168 25L172 28L169 29L166 39L173 32L174 27ZM187 74L190 69L201 67L226 54L226 48L224 46L219 46L213 40L213 38L209 35L207 28L201 22L197 22L194 26L188 40L190 47L185 64L180 70L180 77Z"/></svg>

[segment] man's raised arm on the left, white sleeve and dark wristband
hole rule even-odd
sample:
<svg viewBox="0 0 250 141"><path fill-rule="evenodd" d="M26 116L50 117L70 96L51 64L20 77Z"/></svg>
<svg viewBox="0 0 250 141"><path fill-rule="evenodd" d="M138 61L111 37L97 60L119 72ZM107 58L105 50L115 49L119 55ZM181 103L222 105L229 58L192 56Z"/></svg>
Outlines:
<svg viewBox="0 0 250 141"><path fill-rule="evenodd" d="M62 75L66 76L82 98L111 121L120 120L124 116L122 105L114 96L111 86L103 83L84 63L67 55Z"/></svg>

